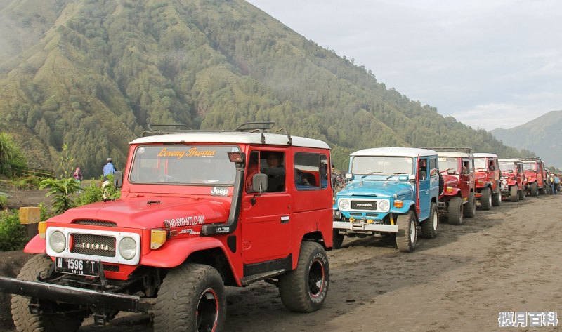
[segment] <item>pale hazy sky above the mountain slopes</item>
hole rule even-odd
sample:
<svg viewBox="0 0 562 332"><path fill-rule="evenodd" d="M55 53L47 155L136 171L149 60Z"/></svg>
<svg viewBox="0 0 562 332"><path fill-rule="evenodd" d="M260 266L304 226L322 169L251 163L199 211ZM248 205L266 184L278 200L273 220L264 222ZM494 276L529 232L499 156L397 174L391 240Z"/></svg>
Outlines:
<svg viewBox="0 0 562 332"><path fill-rule="evenodd" d="M562 1L248 2L473 128L562 110Z"/></svg>

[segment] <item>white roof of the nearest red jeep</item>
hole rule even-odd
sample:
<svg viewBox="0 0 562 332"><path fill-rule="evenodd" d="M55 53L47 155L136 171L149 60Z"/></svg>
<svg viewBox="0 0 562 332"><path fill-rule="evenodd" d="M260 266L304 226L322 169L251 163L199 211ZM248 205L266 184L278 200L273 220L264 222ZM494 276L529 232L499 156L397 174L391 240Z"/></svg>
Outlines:
<svg viewBox="0 0 562 332"><path fill-rule="evenodd" d="M266 145L285 145L289 146L287 135L264 133ZM317 147L329 149L326 142L313 138L303 138L291 136L292 145L297 147ZM137 138L129 144L149 144L149 143L233 143L233 144L258 144L261 145L261 133L249 133L246 131L193 131L190 133L173 133L164 135L152 135Z"/></svg>

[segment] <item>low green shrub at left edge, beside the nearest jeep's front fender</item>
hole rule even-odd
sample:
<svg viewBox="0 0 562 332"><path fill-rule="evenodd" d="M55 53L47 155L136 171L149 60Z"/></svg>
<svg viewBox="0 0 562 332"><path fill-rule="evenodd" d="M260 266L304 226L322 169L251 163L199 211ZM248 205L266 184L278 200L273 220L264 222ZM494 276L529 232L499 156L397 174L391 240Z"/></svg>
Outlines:
<svg viewBox="0 0 562 332"><path fill-rule="evenodd" d="M0 251L21 250L27 240L20 213L17 210L0 212Z"/></svg>

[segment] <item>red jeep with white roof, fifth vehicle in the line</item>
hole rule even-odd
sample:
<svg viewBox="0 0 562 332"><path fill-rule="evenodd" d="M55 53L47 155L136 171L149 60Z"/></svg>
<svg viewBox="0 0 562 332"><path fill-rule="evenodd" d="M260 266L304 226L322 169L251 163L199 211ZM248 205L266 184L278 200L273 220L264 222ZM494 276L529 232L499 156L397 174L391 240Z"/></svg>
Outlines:
<svg viewBox="0 0 562 332"><path fill-rule="evenodd" d="M501 191L502 199L519 201L525 199L525 173L523 162L519 159L499 159L499 169L502 171Z"/></svg>

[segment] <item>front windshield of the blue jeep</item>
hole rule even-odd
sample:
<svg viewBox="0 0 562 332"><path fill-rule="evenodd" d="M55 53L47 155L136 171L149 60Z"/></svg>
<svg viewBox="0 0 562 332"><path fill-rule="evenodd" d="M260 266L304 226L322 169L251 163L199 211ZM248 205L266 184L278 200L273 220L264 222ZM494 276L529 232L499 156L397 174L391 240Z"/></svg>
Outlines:
<svg viewBox="0 0 562 332"><path fill-rule="evenodd" d="M412 175L412 157L362 157L353 158L351 173L358 175Z"/></svg>

